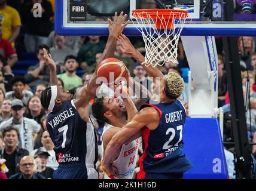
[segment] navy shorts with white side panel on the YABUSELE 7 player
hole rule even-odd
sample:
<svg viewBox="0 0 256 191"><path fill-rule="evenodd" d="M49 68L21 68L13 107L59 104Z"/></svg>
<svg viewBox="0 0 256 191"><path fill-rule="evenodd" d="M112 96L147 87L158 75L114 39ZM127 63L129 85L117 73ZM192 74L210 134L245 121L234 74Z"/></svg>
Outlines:
<svg viewBox="0 0 256 191"><path fill-rule="evenodd" d="M97 179L99 173L94 165L68 164L59 165L53 172L53 179Z"/></svg>

